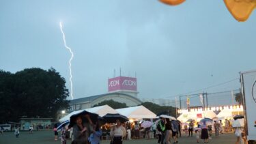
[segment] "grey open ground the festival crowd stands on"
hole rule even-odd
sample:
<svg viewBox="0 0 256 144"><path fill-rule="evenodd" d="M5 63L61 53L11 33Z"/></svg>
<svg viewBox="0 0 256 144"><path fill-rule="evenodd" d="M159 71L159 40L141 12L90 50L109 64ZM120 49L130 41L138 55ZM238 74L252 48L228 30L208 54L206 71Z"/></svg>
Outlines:
<svg viewBox="0 0 256 144"><path fill-rule="evenodd" d="M219 138L210 139L210 143L214 144L233 144L236 141L236 137L234 134L222 134ZM0 143L10 143L10 144L51 144L51 143L61 143L60 140L54 141L54 134L52 131L38 131L33 132L33 134L29 134L29 132L20 132L19 138L16 138L14 136L14 132L4 132L3 134L0 134ZM68 144L70 144L71 141L68 140ZM109 144L109 141L101 141L102 144ZM140 139L140 140L130 140L124 141L124 144L157 144L156 139ZM181 137L179 139L179 143L184 144L193 144L197 143L195 136L194 137ZM200 141L200 143L203 143Z"/></svg>

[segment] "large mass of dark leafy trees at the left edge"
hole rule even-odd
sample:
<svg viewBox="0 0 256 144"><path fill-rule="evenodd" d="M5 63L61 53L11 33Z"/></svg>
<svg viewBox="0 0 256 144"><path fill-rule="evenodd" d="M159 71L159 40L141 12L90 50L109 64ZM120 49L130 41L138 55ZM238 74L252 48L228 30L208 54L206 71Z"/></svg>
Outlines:
<svg viewBox="0 0 256 144"><path fill-rule="evenodd" d="M65 79L53 68L29 68L11 74L0 71L0 122L20 117L55 117L68 109Z"/></svg>

